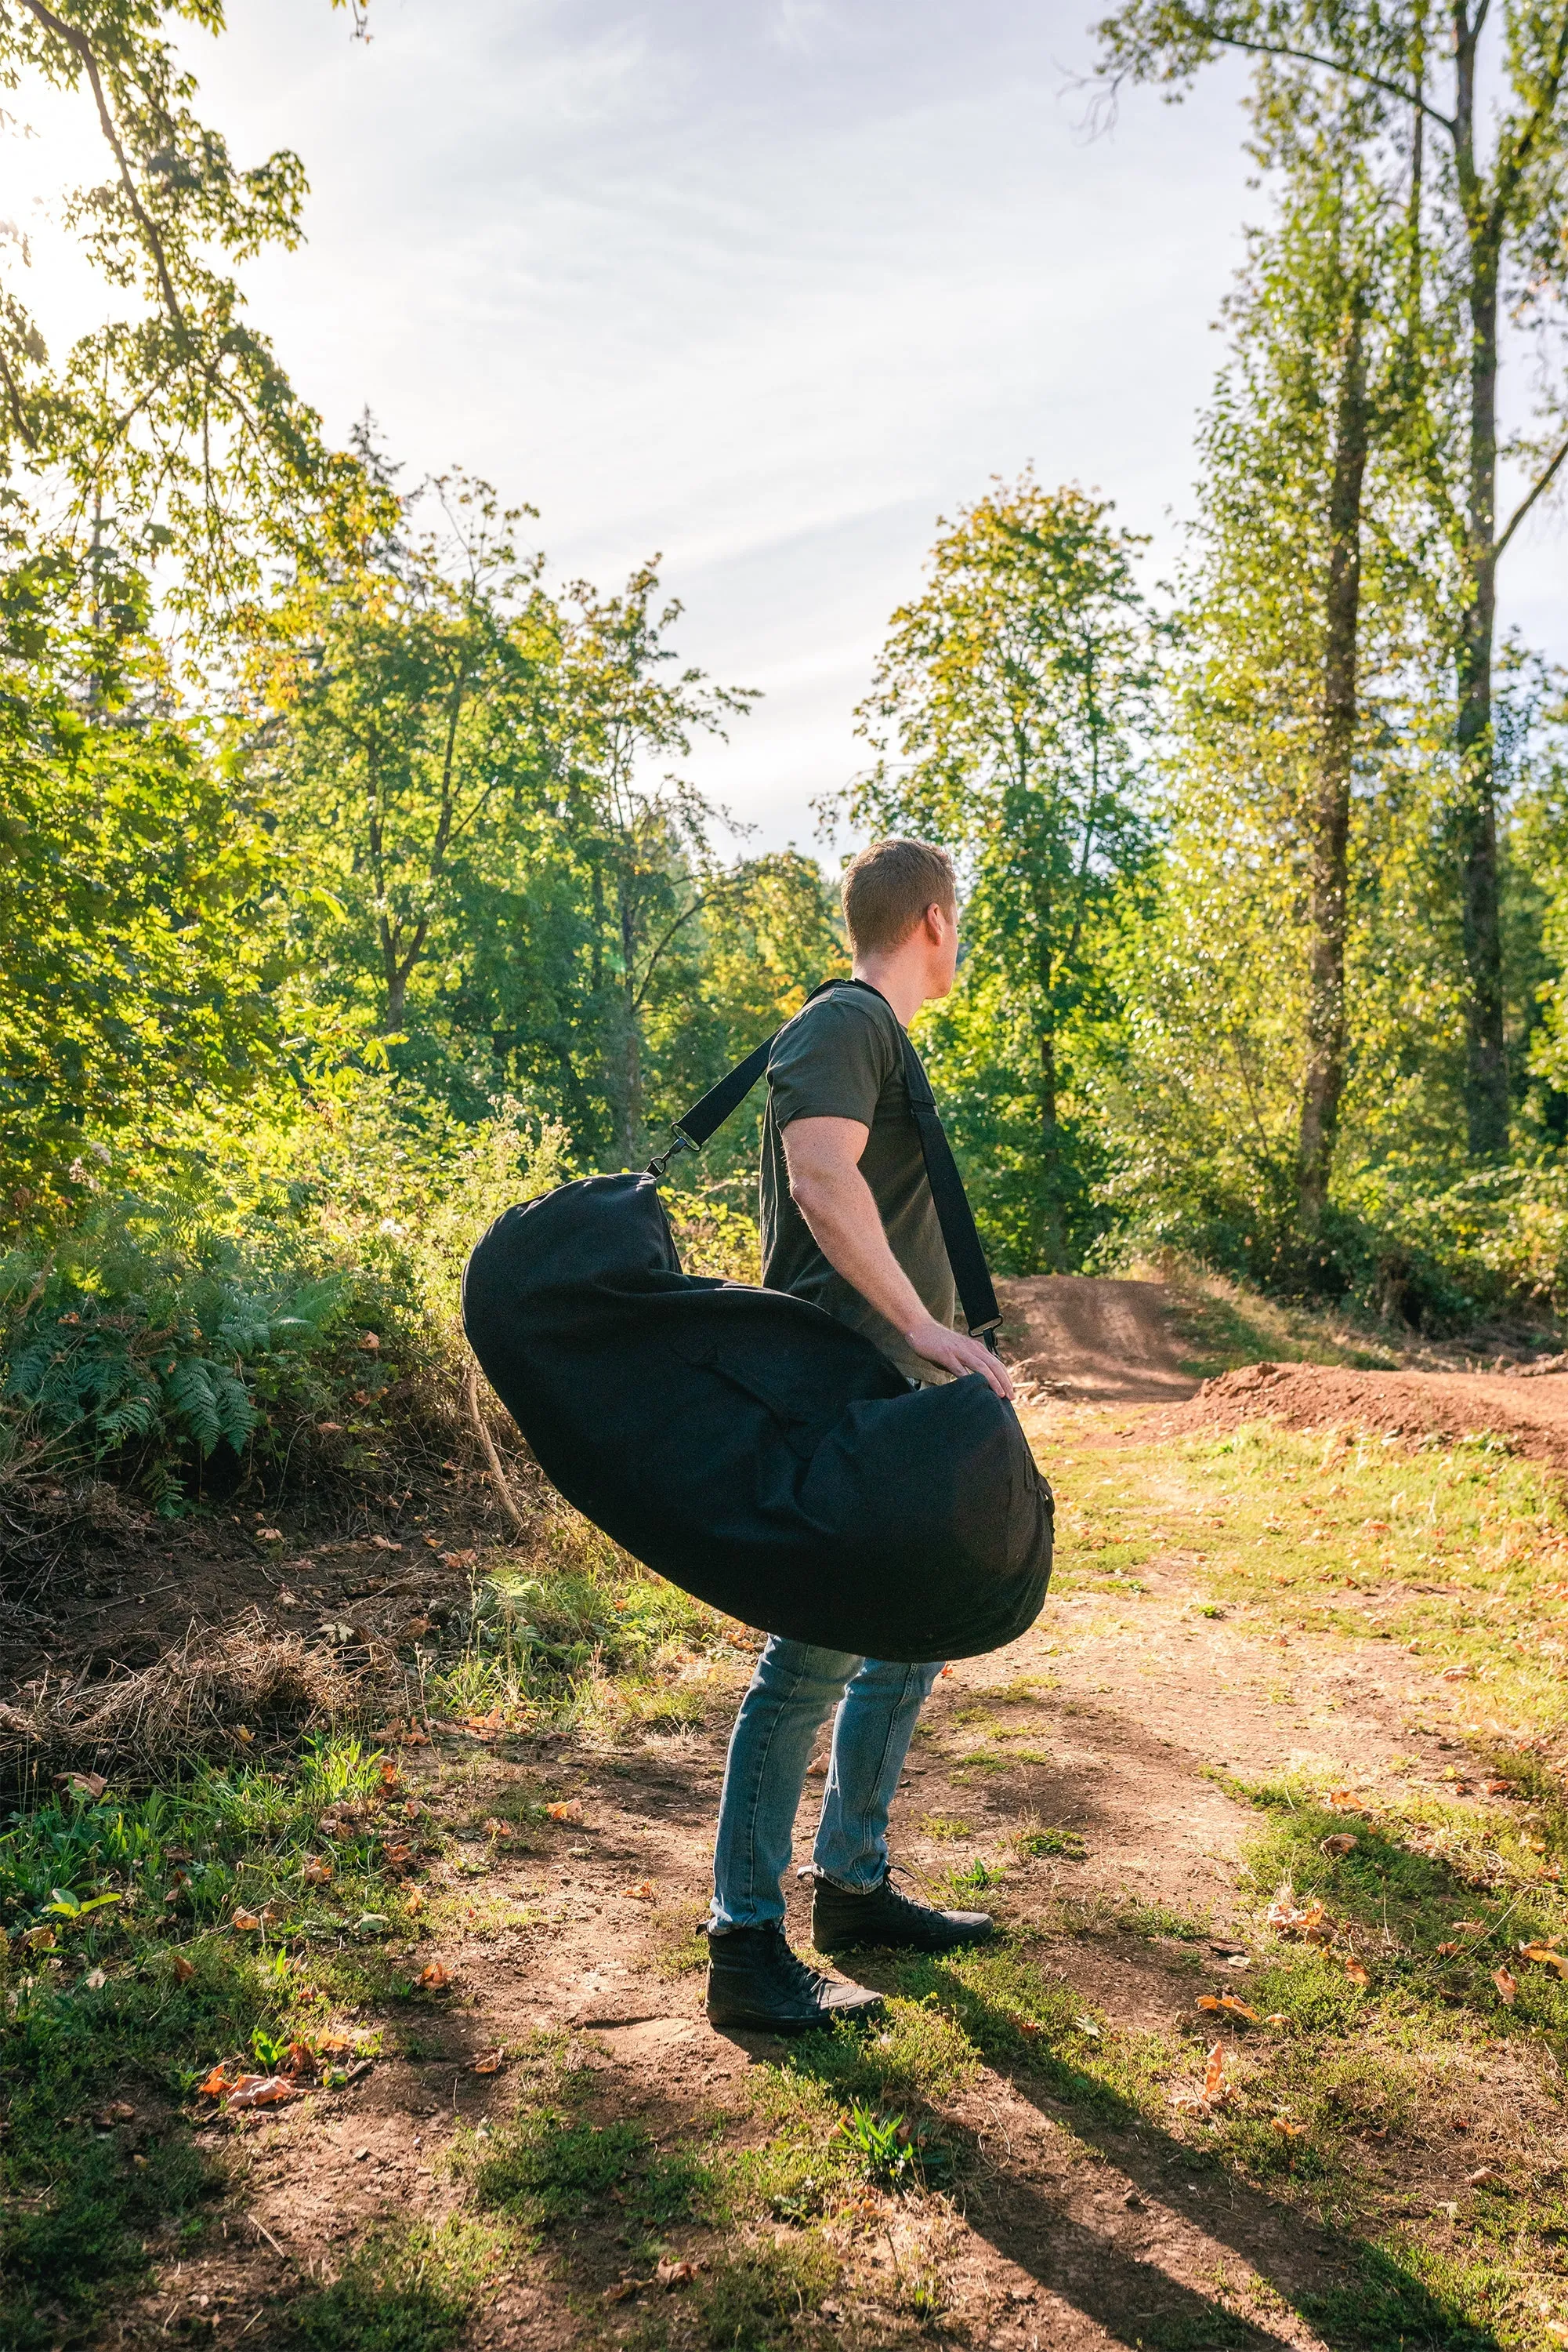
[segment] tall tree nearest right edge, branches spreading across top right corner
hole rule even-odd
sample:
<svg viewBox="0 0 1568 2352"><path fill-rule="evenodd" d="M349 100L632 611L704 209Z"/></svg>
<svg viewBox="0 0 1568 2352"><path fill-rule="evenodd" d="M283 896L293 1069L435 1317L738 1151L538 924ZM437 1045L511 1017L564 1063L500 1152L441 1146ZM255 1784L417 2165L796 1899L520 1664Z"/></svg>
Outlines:
<svg viewBox="0 0 1568 2352"><path fill-rule="evenodd" d="M1453 541L1460 595L1450 619L1455 666L1453 842L1465 943L1465 1110L1476 1155L1505 1150L1509 1077L1505 1042L1497 748L1493 661L1497 564L1526 515L1568 461L1568 379L1561 369L1568 294L1568 0L1516 0L1502 28L1505 103L1490 151L1476 108L1481 38L1490 0L1450 0L1450 59L1436 64L1439 16L1427 0L1387 12L1373 0L1128 0L1100 26L1112 75L1182 87L1220 49L1258 59L1265 103L1295 103L1314 78L1354 85L1387 143L1406 160L1410 205L1432 249L1432 287L1448 310L1446 341L1462 353L1462 449L1434 466L1432 496ZM1439 101L1434 87L1446 82ZM1441 139L1427 174L1427 139ZM1432 186L1436 181L1436 186ZM1497 435L1500 320L1505 306L1535 329L1547 386L1537 433L1509 449ZM1500 456L1526 463L1526 489L1497 522Z"/></svg>

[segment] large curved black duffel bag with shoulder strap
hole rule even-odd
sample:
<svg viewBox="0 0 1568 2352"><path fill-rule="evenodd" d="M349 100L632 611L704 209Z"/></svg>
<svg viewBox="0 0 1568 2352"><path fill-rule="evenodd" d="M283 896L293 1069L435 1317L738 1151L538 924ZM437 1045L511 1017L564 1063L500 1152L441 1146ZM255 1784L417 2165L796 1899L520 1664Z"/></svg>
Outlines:
<svg viewBox="0 0 1568 2352"><path fill-rule="evenodd" d="M658 1176L729 1117L771 1044L642 1176L583 1176L498 1216L463 1272L463 1329L567 1501L684 1592L856 1656L973 1658L1034 1623L1051 1578L1051 1489L1013 1406L980 1374L917 1388L823 1308L679 1265ZM959 1298L994 1345L973 1216L907 1040L905 1077Z"/></svg>

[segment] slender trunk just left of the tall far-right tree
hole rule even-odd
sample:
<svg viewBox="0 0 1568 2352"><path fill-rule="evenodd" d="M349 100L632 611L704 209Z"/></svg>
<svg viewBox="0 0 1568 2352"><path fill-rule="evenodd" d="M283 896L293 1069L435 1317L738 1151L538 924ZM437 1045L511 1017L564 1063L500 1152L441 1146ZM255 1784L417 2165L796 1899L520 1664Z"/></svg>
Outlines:
<svg viewBox="0 0 1568 2352"><path fill-rule="evenodd" d="M1345 934L1349 894L1349 776L1356 753L1356 649L1361 630L1361 485L1366 477L1366 343L1356 296L1333 423L1328 492L1328 600L1324 708L1309 802L1312 938L1307 950L1307 1073L1302 1082L1295 1214L1324 1221L1345 1094Z"/></svg>

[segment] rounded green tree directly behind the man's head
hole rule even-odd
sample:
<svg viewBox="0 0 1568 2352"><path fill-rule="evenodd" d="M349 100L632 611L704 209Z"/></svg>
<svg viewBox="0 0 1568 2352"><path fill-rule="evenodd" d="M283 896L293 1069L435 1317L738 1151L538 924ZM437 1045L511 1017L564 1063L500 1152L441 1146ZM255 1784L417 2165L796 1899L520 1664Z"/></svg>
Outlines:
<svg viewBox="0 0 1568 2352"><path fill-rule="evenodd" d="M1070 1258L1063 1035L1095 997L1103 924L1147 854L1152 630L1140 541L1107 515L1025 473L943 522L860 706L877 764L842 797L853 823L961 861L964 988L1032 1103L1030 1218L1011 1240L1025 1268Z"/></svg>

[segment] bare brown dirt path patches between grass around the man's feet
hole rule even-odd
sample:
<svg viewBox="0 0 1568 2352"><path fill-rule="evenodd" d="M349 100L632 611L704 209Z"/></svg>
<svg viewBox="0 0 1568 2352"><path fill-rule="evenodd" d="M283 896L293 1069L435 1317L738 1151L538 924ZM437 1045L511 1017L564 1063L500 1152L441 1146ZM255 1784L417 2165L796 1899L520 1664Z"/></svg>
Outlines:
<svg viewBox="0 0 1568 2352"><path fill-rule="evenodd" d="M1067 1423L1048 1406L1032 1421L1041 1458L1056 1461ZM1114 1451L1100 1449L1117 1425L1110 1411L1072 1423L1077 1468L1060 1477L1067 1557L1079 1496L1117 1477ZM1284 1661L1276 1642L1199 1613L1204 1576L1192 1548L1157 1552L1140 1585L1135 1606L1114 1592L1063 1590L1023 1642L954 1665L929 1708L893 1828L898 1856L931 1879L954 1865L1004 1872L985 1900L1056 1980L1119 2025L1180 2030L1201 1990L1246 1990L1248 1973L1232 1907L1258 1816L1213 1776L1321 1766L1375 1790L1396 1752L1441 1769L1446 1738L1420 1726L1432 1677L1415 1661L1385 1651L1368 1670L1345 1646L1312 1639ZM571 2032L592 2067L602 2124L632 2119L670 2147L757 2136L752 2082L778 2044L710 2032L691 1938L741 1682L738 1668L715 1677L701 1729L646 1738L630 1755L501 1736L449 1738L407 1762L409 1780L444 1790L451 1818L517 1813L522 1799L543 1795L581 1806L581 1820L503 1844L477 1830L463 1844L458 1830L458 1860L440 1877L465 1922L421 1945L421 1959L451 1971L451 1997L437 2013L402 2018L388 2056L334 2100L303 2100L275 2122L209 2126L237 2166L244 2218L223 2239L209 2237L207 2251L167 2265L122 2340L167 2338L212 2314L223 2321L221 2340L282 2343L275 2312L301 2281L331 2274L383 2223L456 2211L444 2169L454 2133L503 2117L515 2100L515 2058L496 2074L473 2072L487 2051L517 2053L538 2034ZM1018 1839L1039 1825L1067 1853L1081 1842L1081 1860L1027 1858ZM804 1940L799 1896L792 1907ZM1161 1931L1166 1917L1175 1933ZM1180 1917L1208 1922L1208 1940L1194 1943ZM891 1983L875 1962L860 1973ZM1204 2171L1157 2129L1114 2114L1088 2136L1081 2122L1063 2129L1065 2110L1027 2070L985 2067L943 2112L976 2161L957 2206L905 2197L898 2216L879 2209L844 2225L856 2253L844 2307L858 2312L846 2343L1051 2352L1319 2343L1258 2286L1260 2274L1319 2291L1333 2279L1335 2249L1298 2211ZM1458 2192L1474 2145L1455 2143L1436 2161ZM693 2260L712 2246L710 2232L684 2230ZM940 2317L924 2326L896 2317L893 2281L914 2260L943 2281ZM611 2225L555 2234L538 2263L491 2293L463 2340L487 2352L663 2343L675 2300L661 2288L607 2300L621 2296L625 2267ZM839 2305L825 2312L832 2328L839 2317Z"/></svg>

